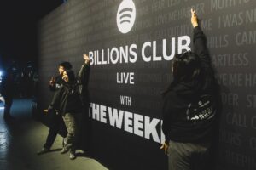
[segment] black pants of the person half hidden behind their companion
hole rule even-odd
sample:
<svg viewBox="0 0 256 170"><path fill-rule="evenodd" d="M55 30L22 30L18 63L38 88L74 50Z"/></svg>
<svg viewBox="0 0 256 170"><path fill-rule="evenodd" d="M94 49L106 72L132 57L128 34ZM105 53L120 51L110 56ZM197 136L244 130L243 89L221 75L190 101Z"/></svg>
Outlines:
<svg viewBox="0 0 256 170"><path fill-rule="evenodd" d="M49 133L44 144L44 148L50 149L52 144L55 142L57 134L60 130L64 133L64 136L67 136L67 129L62 120L61 115L57 115L55 112L49 113L50 123L49 123ZM63 143L62 143L63 144Z"/></svg>

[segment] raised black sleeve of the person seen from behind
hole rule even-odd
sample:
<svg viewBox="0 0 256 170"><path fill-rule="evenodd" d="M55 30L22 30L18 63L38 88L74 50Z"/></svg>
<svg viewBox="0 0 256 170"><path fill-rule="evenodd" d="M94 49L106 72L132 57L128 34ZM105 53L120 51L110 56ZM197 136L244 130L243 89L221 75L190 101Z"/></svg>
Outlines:
<svg viewBox="0 0 256 170"><path fill-rule="evenodd" d="M206 71L212 72L212 62L211 57L209 54L209 50L207 48L207 37L201 31L199 26L194 28L194 52L197 54L201 59L201 66Z"/></svg>

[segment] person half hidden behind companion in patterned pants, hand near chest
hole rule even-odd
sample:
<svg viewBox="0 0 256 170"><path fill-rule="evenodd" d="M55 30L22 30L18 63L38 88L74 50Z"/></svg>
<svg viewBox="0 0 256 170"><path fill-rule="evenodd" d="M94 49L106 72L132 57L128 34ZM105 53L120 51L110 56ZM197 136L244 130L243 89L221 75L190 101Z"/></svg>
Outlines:
<svg viewBox="0 0 256 170"><path fill-rule="evenodd" d="M50 91L57 91L62 84L62 76L63 76L63 72L66 70L70 70L72 69L72 65L67 62L64 61L59 65L58 71L59 71L59 75L57 77L51 77L50 81L49 81L49 90ZM62 120L61 114L59 114L56 111L51 111L49 112L49 133L47 135L47 139L44 143L44 146L41 150L38 150L38 155L44 154L49 152L49 149L51 148L52 144L55 142L56 136L60 130L60 128L64 129L64 136L67 135L67 130L66 130L66 126L64 125L64 122ZM61 154L66 153L67 147L65 147L64 142L63 142L63 147L61 150Z"/></svg>

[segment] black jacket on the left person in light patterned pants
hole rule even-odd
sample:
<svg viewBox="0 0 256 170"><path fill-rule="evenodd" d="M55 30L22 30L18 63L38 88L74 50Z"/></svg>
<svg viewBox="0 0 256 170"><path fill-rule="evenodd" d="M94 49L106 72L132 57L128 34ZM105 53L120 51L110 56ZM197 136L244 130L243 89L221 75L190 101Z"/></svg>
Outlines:
<svg viewBox="0 0 256 170"><path fill-rule="evenodd" d="M61 115L65 114L67 109L68 97L71 97L73 94L79 95L78 102L72 102L72 112L78 112L82 110L82 105L84 105L84 96L85 92L88 93L88 82L90 75L90 64L85 64L81 66L79 74L77 76L76 82L62 83L61 87L55 92L55 95L52 99L51 104L49 105L48 110L52 111L53 109L59 111ZM69 100L69 104L71 101Z"/></svg>

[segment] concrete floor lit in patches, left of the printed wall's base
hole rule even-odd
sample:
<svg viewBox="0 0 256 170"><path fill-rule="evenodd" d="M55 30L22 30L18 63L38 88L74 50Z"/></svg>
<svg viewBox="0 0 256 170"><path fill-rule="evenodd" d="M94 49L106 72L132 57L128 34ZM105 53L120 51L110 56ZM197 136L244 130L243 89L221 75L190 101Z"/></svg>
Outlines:
<svg viewBox="0 0 256 170"><path fill-rule="evenodd" d="M82 150L71 161L69 154L61 155L61 136L49 153L38 156L48 127L31 118L31 99L15 99L11 115L15 120L3 119L3 105L0 105L0 170L107 170L96 160L87 157Z"/></svg>

